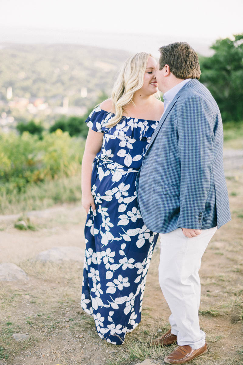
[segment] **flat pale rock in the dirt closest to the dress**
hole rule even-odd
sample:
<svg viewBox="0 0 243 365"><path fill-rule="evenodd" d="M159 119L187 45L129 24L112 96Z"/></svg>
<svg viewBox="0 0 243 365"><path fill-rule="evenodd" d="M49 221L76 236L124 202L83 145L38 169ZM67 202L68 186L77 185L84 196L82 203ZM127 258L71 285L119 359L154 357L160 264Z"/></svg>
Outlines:
<svg viewBox="0 0 243 365"><path fill-rule="evenodd" d="M83 261L85 250L76 246L59 246L52 249L42 251L36 256L38 261Z"/></svg>

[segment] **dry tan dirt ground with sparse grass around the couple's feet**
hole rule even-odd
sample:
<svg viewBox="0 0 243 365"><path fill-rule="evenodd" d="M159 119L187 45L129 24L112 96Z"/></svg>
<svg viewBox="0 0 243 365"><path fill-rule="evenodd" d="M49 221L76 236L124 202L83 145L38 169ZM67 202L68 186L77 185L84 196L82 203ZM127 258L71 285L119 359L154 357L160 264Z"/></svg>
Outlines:
<svg viewBox="0 0 243 365"><path fill-rule="evenodd" d="M243 364L242 165L241 153L227 154L233 220L217 231L203 256L200 325L207 333L210 351L192 365ZM146 346L154 334L168 327L170 314L157 281L159 245L149 268L142 321L124 346L109 345L97 336L93 319L79 306L82 262L31 260L56 246L83 249L84 210L64 204L28 216L36 231L14 228L19 215L0 216L0 261L19 265L30 278L0 282L0 365L130 365L144 358L164 364L162 358L171 349ZM15 332L29 334L29 342L15 343Z"/></svg>

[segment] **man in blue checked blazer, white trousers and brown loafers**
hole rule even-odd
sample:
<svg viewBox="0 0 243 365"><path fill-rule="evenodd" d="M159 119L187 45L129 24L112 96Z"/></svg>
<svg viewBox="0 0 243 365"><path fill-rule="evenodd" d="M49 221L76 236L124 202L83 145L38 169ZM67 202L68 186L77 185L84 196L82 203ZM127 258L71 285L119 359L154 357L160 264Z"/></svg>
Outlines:
<svg viewBox="0 0 243 365"><path fill-rule="evenodd" d="M196 52L184 42L160 48L156 78L164 113L137 176L146 226L160 233L159 282L171 310L171 330L154 341L178 343L167 364L184 364L207 352L200 330L201 257L230 217L223 171L219 108L202 85Z"/></svg>

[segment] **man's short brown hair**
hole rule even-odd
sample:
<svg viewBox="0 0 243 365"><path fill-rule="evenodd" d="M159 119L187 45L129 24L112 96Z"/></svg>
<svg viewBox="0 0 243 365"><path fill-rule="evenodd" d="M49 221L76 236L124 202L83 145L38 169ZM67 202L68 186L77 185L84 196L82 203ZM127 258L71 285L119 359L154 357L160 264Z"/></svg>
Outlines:
<svg viewBox="0 0 243 365"><path fill-rule="evenodd" d="M196 51L186 42L175 42L159 49L159 68L169 65L170 71L177 78L197 78L201 70Z"/></svg>

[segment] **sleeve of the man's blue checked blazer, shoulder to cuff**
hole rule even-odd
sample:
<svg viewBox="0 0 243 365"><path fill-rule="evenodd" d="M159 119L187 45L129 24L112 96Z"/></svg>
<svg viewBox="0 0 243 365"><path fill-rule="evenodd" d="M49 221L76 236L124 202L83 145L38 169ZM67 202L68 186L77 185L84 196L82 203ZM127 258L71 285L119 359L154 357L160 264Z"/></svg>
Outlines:
<svg viewBox="0 0 243 365"><path fill-rule="evenodd" d="M181 162L178 227L201 229L213 164L213 126L208 101L200 95L189 96L177 123Z"/></svg>

